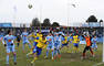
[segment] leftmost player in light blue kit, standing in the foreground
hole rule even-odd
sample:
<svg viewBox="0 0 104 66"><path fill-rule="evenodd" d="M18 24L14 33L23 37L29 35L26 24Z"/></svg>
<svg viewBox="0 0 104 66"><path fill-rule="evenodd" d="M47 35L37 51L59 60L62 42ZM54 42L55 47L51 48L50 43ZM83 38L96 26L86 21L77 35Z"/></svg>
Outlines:
<svg viewBox="0 0 104 66"><path fill-rule="evenodd" d="M15 51L14 51L14 41L15 36L12 35L12 31L8 31L8 35L6 35L3 37L3 44L7 48L7 66L9 66L9 55L10 52L13 53L13 57L14 57L14 65L17 65L17 55L15 55Z"/></svg>

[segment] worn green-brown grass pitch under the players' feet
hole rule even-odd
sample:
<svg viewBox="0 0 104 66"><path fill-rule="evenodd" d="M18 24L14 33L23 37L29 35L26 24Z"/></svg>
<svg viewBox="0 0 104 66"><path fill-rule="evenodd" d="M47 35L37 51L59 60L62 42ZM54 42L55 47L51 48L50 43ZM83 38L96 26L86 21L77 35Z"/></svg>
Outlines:
<svg viewBox="0 0 104 66"><path fill-rule="evenodd" d="M17 46L17 45L15 45ZM102 62L102 53L103 53L103 44L98 43L97 51L95 53L95 57L92 57L90 52L86 54L86 59L81 59L82 52L85 45L80 45L80 53L70 53L73 51L73 45L70 44L70 47L63 47L61 50L61 58L52 61L51 53L48 59L44 59L45 50L43 50L39 59L31 65L31 61L33 56L27 58L27 53L29 53L29 47L25 45L25 53L22 53L22 44L20 44L19 48L17 48L17 65L13 65L13 55L10 54L10 65L9 66L94 66ZM3 44L0 43L0 66L6 66L6 48ZM98 65L104 66L104 65Z"/></svg>

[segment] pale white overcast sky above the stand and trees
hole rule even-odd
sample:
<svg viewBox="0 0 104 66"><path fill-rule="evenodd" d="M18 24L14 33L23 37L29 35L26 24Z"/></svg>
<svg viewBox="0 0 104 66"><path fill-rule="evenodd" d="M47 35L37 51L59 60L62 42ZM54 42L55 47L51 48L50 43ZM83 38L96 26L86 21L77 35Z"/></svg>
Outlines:
<svg viewBox="0 0 104 66"><path fill-rule="evenodd" d="M92 14L104 20L103 3L104 0L0 0L0 22L31 23L34 18L41 22L49 18L51 23L71 25L85 23ZM29 9L29 4L33 8Z"/></svg>

